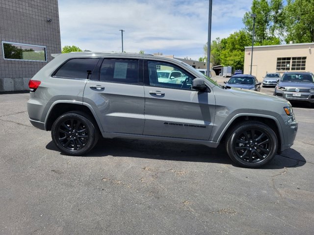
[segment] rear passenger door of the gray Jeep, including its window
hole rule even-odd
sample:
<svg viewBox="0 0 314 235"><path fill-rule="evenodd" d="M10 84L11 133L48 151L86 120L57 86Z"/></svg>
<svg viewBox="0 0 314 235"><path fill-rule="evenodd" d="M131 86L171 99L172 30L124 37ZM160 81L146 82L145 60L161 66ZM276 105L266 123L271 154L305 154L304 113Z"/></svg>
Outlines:
<svg viewBox="0 0 314 235"><path fill-rule="evenodd" d="M143 61L126 58L100 61L83 95L111 133L143 134L144 99Z"/></svg>

